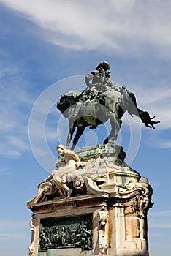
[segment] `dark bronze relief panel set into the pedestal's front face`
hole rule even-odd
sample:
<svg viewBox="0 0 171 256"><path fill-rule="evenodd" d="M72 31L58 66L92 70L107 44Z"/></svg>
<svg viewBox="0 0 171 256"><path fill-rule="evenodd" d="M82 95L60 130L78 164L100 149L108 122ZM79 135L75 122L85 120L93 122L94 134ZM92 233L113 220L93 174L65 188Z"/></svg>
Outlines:
<svg viewBox="0 0 171 256"><path fill-rule="evenodd" d="M56 248L91 250L92 214L41 219L39 252Z"/></svg>

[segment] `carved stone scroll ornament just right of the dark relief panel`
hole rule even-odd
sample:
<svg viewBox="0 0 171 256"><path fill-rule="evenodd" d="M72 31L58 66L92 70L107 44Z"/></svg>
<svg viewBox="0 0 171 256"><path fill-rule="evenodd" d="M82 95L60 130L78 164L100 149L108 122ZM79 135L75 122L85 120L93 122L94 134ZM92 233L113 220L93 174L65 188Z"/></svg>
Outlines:
<svg viewBox="0 0 171 256"><path fill-rule="evenodd" d="M107 254L108 242L107 242L107 219L108 213L104 206L98 212L97 217L99 218L99 250L101 255Z"/></svg>

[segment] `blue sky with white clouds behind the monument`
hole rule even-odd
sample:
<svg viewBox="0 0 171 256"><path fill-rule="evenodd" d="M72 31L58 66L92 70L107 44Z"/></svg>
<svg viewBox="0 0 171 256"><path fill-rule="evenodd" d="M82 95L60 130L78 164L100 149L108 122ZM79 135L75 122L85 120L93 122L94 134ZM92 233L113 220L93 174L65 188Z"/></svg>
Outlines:
<svg viewBox="0 0 171 256"><path fill-rule="evenodd" d="M58 143L66 143L68 123L56 102L83 91L84 75L108 61L111 79L161 121L149 129L127 114L117 143L153 187L151 256L170 256L170 12L170 0L0 0L1 255L28 255L26 202L55 169ZM86 129L77 148L102 144L109 129Z"/></svg>

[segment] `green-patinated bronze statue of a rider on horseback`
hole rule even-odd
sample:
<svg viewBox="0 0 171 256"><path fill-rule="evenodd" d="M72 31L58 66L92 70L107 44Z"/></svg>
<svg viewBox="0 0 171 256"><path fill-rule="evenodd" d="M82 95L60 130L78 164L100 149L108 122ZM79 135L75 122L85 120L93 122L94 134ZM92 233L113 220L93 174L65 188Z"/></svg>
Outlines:
<svg viewBox="0 0 171 256"><path fill-rule="evenodd" d="M83 92L69 91L61 96L57 104L58 110L69 119L69 133L66 148L69 148L72 135L77 128L73 139L73 150L86 127L96 129L99 124L110 120L111 131L104 144L114 143L121 128L121 118L127 111L131 116L140 117L146 127L155 129L155 116L151 117L147 111L137 107L136 97L126 89L118 86L110 79L110 64L102 61L96 70L85 76L86 89Z"/></svg>

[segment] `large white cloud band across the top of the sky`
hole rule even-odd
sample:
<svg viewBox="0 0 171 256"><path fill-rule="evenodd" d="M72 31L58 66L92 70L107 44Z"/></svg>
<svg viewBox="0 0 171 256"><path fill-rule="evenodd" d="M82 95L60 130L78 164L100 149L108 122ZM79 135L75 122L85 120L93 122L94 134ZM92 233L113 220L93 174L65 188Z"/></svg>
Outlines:
<svg viewBox="0 0 171 256"><path fill-rule="evenodd" d="M1 0L40 26L45 39L74 50L171 56L170 7L166 1ZM43 33L44 33L43 32Z"/></svg>

